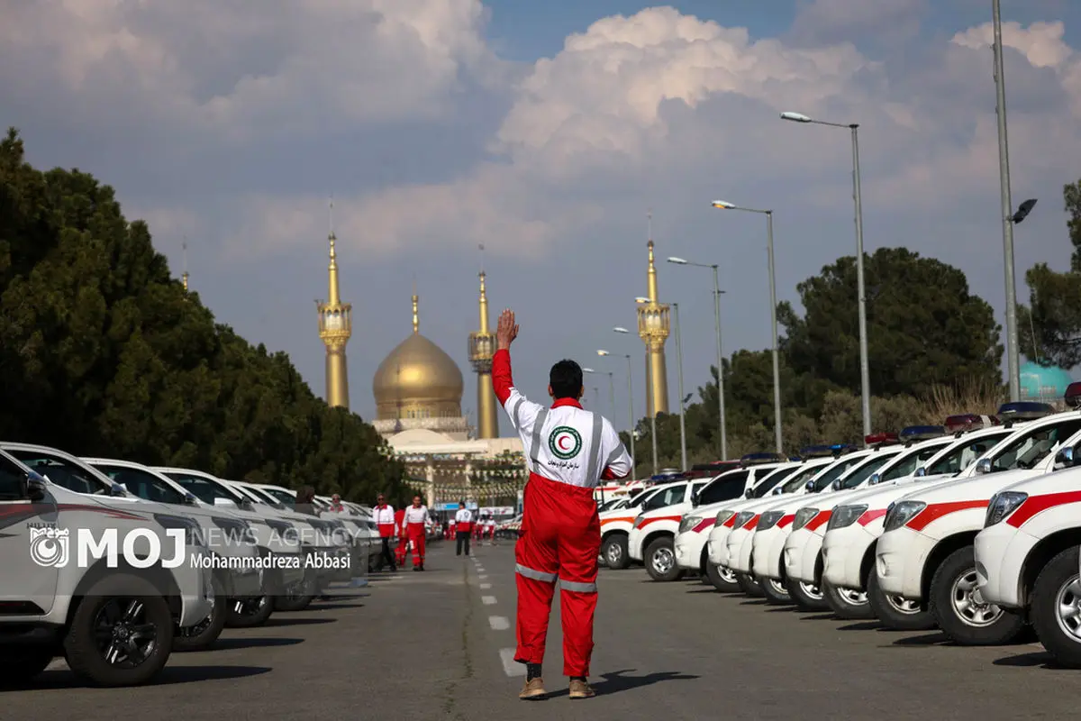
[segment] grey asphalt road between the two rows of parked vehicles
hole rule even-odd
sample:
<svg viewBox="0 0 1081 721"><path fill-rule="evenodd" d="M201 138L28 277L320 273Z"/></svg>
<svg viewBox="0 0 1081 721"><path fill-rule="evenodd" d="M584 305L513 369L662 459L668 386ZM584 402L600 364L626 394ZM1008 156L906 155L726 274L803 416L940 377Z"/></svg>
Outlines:
<svg viewBox="0 0 1081 721"><path fill-rule="evenodd" d="M511 544L428 571L375 575L333 602L227 629L212 651L174 654L161 680L86 689L66 670L0 692L0 719L1017 719L1077 712L1081 672L1038 644L961 649L939 633L879 630L602 571L596 698L570 703L558 613L548 636L551 696L520 702ZM558 598L558 596L557 596ZM557 603L558 606L558 603ZM510 675L508 675L508 672ZM513 675L513 676L511 676ZM828 715L828 717L827 717Z"/></svg>

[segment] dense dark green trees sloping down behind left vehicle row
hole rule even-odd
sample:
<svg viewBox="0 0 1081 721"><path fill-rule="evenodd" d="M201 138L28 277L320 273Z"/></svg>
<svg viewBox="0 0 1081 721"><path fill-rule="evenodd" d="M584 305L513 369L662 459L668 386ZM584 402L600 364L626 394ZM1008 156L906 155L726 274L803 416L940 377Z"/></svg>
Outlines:
<svg viewBox="0 0 1081 721"><path fill-rule="evenodd" d="M0 142L0 438L370 502L410 494L375 429L170 277L142 221Z"/></svg>

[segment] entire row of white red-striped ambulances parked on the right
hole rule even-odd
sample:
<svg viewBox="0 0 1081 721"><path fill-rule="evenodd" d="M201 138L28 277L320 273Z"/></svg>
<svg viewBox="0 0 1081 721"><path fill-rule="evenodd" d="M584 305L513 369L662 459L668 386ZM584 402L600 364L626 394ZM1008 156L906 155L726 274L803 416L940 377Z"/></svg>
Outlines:
<svg viewBox="0 0 1081 721"><path fill-rule="evenodd" d="M600 513L602 558L658 582L698 573L771 604L938 628L960 645L1031 627L1081 668L1081 411L1069 404L1006 403L998 417L950 416L799 459L757 454L705 482L658 485Z"/></svg>

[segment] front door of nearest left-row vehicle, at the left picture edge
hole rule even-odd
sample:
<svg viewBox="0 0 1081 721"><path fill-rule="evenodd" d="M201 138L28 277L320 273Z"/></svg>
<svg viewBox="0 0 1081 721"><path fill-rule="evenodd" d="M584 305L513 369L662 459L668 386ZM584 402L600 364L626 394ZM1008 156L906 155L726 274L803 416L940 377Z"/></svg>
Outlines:
<svg viewBox="0 0 1081 721"><path fill-rule="evenodd" d="M34 503L27 473L0 453L0 616L41 616L53 607L61 565L70 562L70 539L57 521L50 493Z"/></svg>

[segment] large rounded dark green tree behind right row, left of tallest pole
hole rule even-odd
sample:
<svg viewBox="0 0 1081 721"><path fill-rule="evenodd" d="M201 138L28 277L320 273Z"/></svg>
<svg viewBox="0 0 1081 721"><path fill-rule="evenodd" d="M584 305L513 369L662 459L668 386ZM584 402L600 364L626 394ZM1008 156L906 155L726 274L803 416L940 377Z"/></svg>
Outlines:
<svg viewBox="0 0 1081 721"><path fill-rule="evenodd" d="M991 307L970 294L961 270L903 248L879 249L864 266L876 395L923 396L935 385L1001 375L1000 329ZM818 405L829 386L858 392L855 258L838 259L797 290L803 317L785 303L778 320L787 361L808 378L804 404Z"/></svg>

